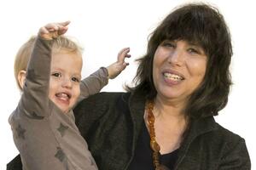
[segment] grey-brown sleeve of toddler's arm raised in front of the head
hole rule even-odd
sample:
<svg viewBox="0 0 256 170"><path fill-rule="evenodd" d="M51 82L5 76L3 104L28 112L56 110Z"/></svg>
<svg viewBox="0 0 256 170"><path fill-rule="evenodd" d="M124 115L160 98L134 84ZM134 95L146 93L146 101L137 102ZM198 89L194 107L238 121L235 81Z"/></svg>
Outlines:
<svg viewBox="0 0 256 170"><path fill-rule="evenodd" d="M32 119L49 116L49 73L51 62L52 40L38 37L26 70L26 82L18 108Z"/></svg>

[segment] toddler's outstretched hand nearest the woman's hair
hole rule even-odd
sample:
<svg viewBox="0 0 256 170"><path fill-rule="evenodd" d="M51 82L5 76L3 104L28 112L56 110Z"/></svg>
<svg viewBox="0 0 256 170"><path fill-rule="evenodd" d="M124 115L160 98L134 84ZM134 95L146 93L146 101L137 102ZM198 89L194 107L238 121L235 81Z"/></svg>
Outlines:
<svg viewBox="0 0 256 170"><path fill-rule="evenodd" d="M130 58L131 55L128 54L130 52L130 48L123 48L118 54L118 60L114 62L112 65L107 67L108 69L108 78L113 79L119 76L121 71L125 70L125 67L129 65L129 63L125 62L125 58Z"/></svg>

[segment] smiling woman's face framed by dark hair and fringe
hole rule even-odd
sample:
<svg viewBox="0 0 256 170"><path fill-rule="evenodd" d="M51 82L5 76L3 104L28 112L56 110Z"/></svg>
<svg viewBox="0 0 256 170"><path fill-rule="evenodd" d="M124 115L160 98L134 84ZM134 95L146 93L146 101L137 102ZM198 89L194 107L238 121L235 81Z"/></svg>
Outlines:
<svg viewBox="0 0 256 170"><path fill-rule="evenodd" d="M153 61L157 98L185 104L205 76L207 55L203 48L187 41L164 41Z"/></svg>

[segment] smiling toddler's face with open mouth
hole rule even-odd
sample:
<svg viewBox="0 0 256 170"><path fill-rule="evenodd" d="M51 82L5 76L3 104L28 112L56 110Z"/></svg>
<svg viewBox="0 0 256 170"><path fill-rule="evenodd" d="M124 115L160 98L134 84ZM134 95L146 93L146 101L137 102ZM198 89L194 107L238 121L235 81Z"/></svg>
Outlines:
<svg viewBox="0 0 256 170"><path fill-rule="evenodd" d="M49 99L64 113L72 109L79 98L81 70L81 54L70 53L66 50L52 54Z"/></svg>

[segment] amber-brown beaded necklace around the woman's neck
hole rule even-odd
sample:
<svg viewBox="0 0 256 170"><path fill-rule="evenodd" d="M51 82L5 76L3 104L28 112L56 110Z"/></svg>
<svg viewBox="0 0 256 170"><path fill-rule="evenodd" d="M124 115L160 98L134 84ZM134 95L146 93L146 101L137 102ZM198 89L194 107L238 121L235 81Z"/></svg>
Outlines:
<svg viewBox="0 0 256 170"><path fill-rule="evenodd" d="M155 167L155 170L165 170L168 169L167 167L160 165L160 145L155 140L155 133L154 133L154 102L149 101L148 102L148 108L147 108L147 121L148 121L148 130L149 130L149 136L150 136L150 147L153 150L153 164Z"/></svg>

